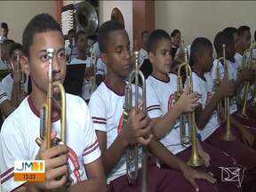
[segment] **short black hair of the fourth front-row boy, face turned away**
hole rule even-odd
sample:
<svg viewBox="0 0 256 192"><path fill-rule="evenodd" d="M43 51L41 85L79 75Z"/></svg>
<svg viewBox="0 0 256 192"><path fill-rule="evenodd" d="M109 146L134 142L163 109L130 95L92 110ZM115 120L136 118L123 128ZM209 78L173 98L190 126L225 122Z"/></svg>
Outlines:
<svg viewBox="0 0 256 192"><path fill-rule="evenodd" d="M197 62L196 58L202 57L205 52L212 49L212 42L205 37L197 37L190 47L190 60L189 65L194 66Z"/></svg>

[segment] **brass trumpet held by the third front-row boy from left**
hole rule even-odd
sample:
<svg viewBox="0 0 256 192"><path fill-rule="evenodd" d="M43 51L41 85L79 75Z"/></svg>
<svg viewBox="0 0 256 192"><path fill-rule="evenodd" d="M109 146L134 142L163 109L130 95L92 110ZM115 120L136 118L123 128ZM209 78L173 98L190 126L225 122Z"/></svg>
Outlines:
<svg viewBox="0 0 256 192"><path fill-rule="evenodd" d="M179 100L181 94L183 93L183 84L182 77L180 75L181 68L185 68L186 76L187 76L187 89L188 94L193 92L193 80L192 80L192 70L188 65L188 49L185 48L185 62L180 64L178 68L178 80L177 80L177 92L175 92L175 100ZM188 120L188 132L186 132L186 119ZM203 160L198 154L197 148L197 140L196 140L196 117L195 111L189 112L187 114L182 114L179 118L180 121L180 143L182 145L192 144L192 155L188 160L189 166L201 166L203 164Z"/></svg>

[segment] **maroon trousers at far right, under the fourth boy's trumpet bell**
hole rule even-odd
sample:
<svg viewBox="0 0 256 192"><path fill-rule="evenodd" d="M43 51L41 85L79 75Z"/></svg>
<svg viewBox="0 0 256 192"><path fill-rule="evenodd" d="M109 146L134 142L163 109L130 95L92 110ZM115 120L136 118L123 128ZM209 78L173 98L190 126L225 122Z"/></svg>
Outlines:
<svg viewBox="0 0 256 192"><path fill-rule="evenodd" d="M236 163L244 171L244 180L242 182L243 191L256 191L256 151L241 141L241 135L236 129L232 129L233 134L237 140L224 141L220 137L225 132L225 128L220 126L212 135L204 140L204 142L212 145L215 148L226 152L230 157L232 156Z"/></svg>

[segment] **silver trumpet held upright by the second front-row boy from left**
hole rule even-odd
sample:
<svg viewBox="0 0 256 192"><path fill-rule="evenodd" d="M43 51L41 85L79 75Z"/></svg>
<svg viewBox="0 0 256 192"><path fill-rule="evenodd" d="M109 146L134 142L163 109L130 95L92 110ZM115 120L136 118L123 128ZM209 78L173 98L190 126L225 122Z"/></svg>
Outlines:
<svg viewBox="0 0 256 192"><path fill-rule="evenodd" d="M135 79L134 86L134 100L135 109L139 110L139 77L142 82L142 111L146 113L146 82L143 73L139 70L139 52L134 52L135 55L135 69L132 70L129 76L129 83L125 86L125 99L124 99L124 120L123 128L125 129L128 120L129 111L132 109L132 82ZM147 148L142 146L142 192L147 191ZM126 172L128 180L131 183L138 178L138 144L130 145L126 150Z"/></svg>

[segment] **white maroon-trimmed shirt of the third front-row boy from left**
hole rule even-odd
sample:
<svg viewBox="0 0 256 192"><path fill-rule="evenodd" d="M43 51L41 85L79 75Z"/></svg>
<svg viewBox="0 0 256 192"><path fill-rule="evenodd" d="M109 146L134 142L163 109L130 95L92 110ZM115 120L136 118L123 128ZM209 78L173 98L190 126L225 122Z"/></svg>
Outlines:
<svg viewBox="0 0 256 192"><path fill-rule="evenodd" d="M146 80L147 87L147 112L150 118L158 118L172 110L174 103L174 92L177 91L177 76L169 74L169 82L164 82L154 76L148 76ZM188 124L186 124L188 129ZM180 144L180 123L179 119L170 131L160 140L166 148L172 151L172 154L180 153L186 147Z"/></svg>

